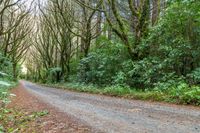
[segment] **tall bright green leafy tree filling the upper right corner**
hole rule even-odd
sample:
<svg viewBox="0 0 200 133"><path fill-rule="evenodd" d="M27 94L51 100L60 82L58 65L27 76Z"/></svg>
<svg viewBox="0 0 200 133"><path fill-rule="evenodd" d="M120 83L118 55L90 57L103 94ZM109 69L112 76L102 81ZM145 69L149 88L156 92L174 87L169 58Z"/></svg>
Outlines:
<svg viewBox="0 0 200 133"><path fill-rule="evenodd" d="M166 69L178 75L185 76L199 66L199 6L200 2L174 2L151 33L151 47L158 50L153 56L168 61L171 68Z"/></svg>

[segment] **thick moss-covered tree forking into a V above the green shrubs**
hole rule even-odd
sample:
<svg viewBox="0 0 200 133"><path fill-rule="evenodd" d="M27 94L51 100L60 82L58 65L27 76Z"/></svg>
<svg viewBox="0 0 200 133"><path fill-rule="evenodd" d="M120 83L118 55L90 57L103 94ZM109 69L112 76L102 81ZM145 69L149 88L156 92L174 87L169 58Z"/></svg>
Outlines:
<svg viewBox="0 0 200 133"><path fill-rule="evenodd" d="M106 7L112 10L112 17L115 19L114 23L110 19L110 15L106 12ZM130 12L130 19L124 17L117 5L117 0L107 0L103 2L104 14L109 26L113 32L124 42L128 49L131 59L138 60L141 58L141 53L138 51L139 44L142 38L147 36L148 25L150 21L150 0L142 1L127 1L127 8ZM131 21L130 21L131 20ZM130 39L130 33L134 41Z"/></svg>

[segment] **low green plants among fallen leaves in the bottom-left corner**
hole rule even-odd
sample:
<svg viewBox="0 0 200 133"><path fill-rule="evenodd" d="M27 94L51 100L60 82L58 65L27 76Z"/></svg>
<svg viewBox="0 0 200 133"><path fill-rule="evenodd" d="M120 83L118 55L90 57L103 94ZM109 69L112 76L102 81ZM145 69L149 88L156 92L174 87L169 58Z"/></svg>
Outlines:
<svg viewBox="0 0 200 133"><path fill-rule="evenodd" d="M0 109L0 133L27 132L29 124L37 122L40 117L48 115L47 110L25 112L17 109ZM28 131L29 132L29 131Z"/></svg>

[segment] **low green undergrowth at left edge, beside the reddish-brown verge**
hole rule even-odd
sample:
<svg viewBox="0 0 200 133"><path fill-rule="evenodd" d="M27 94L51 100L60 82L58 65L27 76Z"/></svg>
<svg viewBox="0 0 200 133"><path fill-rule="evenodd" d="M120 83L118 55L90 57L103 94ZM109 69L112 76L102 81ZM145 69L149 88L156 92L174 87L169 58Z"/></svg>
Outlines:
<svg viewBox="0 0 200 133"><path fill-rule="evenodd" d="M0 79L0 133L25 132L29 124L37 118L48 114L47 110L40 112L28 113L23 110L8 108L11 97L15 96L10 93L17 83L10 80Z"/></svg>

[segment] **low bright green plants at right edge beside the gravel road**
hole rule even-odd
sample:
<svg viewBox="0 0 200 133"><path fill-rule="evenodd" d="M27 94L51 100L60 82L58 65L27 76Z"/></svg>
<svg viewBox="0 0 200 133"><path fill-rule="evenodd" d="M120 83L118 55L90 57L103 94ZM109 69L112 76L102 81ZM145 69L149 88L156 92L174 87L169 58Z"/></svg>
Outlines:
<svg viewBox="0 0 200 133"><path fill-rule="evenodd" d="M164 101L200 105L200 87L190 86L183 79L159 82L153 91L164 94Z"/></svg>

